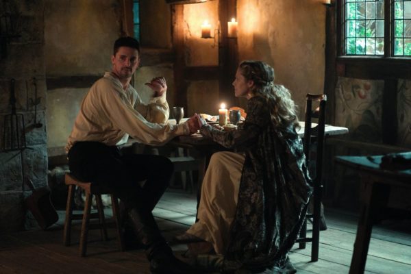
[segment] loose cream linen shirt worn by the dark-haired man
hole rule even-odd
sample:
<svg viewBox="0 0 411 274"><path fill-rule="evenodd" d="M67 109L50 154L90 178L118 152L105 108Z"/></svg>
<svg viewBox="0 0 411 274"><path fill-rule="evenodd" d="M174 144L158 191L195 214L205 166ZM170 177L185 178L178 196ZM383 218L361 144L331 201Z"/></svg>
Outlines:
<svg viewBox="0 0 411 274"><path fill-rule="evenodd" d="M170 125L168 119L166 92L145 105L131 85L124 90L120 80L107 72L84 97L66 152L79 141L114 146L122 145L132 136L146 145L161 145L175 136L189 134L187 123Z"/></svg>

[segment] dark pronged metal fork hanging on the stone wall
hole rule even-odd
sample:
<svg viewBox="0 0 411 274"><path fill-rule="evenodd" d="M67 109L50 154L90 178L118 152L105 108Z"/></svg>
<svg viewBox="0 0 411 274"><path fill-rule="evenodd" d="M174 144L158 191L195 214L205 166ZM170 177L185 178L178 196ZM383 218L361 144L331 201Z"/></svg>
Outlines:
<svg viewBox="0 0 411 274"><path fill-rule="evenodd" d="M3 151L26 149L25 124L23 114L16 113L16 95L14 84L16 80L10 81L10 105L12 113L4 116L3 121Z"/></svg>

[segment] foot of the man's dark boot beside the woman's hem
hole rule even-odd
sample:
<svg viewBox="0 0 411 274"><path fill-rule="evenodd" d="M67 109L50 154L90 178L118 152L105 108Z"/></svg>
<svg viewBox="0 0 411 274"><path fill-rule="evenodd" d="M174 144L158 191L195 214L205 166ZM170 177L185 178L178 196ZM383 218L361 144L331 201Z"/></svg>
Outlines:
<svg viewBox="0 0 411 274"><path fill-rule="evenodd" d="M150 271L153 274L193 274L201 273L194 266L175 258L172 253L162 253L150 260Z"/></svg>

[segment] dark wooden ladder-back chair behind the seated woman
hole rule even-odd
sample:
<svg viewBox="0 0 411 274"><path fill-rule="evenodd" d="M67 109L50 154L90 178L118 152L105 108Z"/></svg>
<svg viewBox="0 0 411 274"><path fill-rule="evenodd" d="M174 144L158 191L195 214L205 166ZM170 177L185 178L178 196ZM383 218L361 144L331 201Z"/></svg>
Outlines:
<svg viewBox="0 0 411 274"><path fill-rule="evenodd" d="M323 149L324 149L324 131L325 131L325 103L327 102L326 95L311 95L308 94L306 103L306 121L303 136L303 149L306 155L306 163L312 177L314 187L312 201L314 209L308 212L306 221L299 234L297 242L299 248L305 249L306 242L312 242L311 260L316 262L319 260L319 242L320 242L320 220L321 220L321 199L323 194ZM312 110L312 102L319 102L319 108ZM316 127L312 127L312 118L318 118ZM312 219L312 237L307 237L307 219Z"/></svg>

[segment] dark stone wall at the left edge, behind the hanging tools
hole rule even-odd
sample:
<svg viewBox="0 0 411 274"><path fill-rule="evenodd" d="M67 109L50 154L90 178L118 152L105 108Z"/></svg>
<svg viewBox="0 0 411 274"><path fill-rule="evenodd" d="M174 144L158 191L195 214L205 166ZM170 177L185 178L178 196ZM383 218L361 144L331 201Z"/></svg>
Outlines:
<svg viewBox="0 0 411 274"><path fill-rule="evenodd" d="M35 188L47 185L44 3L41 0L4 3L0 14L12 12L18 37L8 40L7 51L2 52L5 56L0 62L0 233L31 226L24 207L24 197L31 192L23 182L31 179ZM15 79L16 113L21 114L25 122L23 127L20 116L21 122L14 129L25 135L27 149L17 149L17 140L10 136L10 122L4 119L12 112L11 79ZM5 152L4 148L10 151Z"/></svg>

